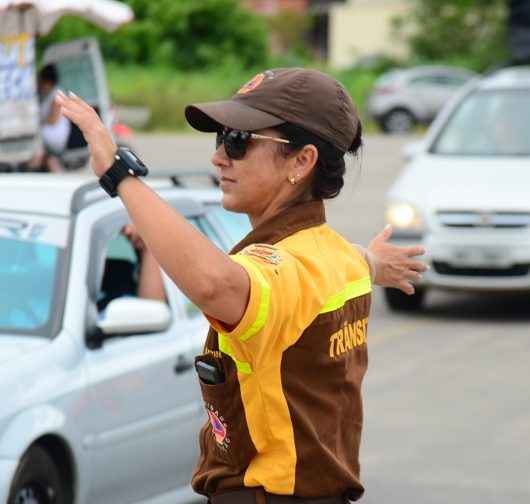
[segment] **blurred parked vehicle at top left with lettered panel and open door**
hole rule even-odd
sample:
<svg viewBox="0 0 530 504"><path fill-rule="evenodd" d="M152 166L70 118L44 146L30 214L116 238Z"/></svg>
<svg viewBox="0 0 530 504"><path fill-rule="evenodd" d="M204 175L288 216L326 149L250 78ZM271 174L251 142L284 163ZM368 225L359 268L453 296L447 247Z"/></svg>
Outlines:
<svg viewBox="0 0 530 504"><path fill-rule="evenodd" d="M37 92L36 37L48 33L66 14L109 31L130 22L134 15L129 6L109 0L0 0L0 14L0 171L46 169L41 159L46 159L49 147L41 133L48 117L40 117L39 111L43 103ZM86 99L112 127L105 69L95 39L51 45L43 63L58 69L59 80L54 85ZM54 93L55 89L50 98ZM57 154L64 169L75 169L87 163L88 150L75 126L69 133L67 141L61 142L64 149L49 154Z"/></svg>

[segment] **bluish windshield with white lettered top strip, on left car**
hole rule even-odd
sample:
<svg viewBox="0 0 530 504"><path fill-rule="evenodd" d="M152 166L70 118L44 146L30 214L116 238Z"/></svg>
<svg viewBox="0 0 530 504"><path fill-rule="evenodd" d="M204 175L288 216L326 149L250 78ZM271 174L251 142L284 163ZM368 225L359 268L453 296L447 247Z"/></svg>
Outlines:
<svg viewBox="0 0 530 504"><path fill-rule="evenodd" d="M51 337L68 223L0 212L0 334Z"/></svg>

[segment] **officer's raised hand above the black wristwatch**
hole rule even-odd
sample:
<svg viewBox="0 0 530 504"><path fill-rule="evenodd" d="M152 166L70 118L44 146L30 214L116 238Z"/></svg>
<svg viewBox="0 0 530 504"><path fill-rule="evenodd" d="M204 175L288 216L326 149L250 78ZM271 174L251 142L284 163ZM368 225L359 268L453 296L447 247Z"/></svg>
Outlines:
<svg viewBox="0 0 530 504"><path fill-rule="evenodd" d="M61 113L83 133L90 149L92 169L97 177L101 177L114 163L117 150L109 130L96 111L74 93L67 96L58 91L55 101L61 107Z"/></svg>

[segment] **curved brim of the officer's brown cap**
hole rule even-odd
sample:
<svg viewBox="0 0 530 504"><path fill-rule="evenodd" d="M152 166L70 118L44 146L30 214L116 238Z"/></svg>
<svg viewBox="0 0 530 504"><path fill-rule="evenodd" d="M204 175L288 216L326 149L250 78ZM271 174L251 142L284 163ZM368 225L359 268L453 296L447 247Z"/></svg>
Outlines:
<svg viewBox="0 0 530 504"><path fill-rule="evenodd" d="M285 122L272 114L232 100L188 105L185 115L193 128L205 132L218 131L223 127L256 131Z"/></svg>

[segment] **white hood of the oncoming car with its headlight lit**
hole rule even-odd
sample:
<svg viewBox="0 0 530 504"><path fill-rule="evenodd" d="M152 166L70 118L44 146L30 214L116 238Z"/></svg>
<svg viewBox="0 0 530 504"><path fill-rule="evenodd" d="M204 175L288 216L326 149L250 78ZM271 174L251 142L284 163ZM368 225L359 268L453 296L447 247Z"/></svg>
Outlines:
<svg viewBox="0 0 530 504"><path fill-rule="evenodd" d="M390 189L390 201L431 210L530 211L530 157L418 156Z"/></svg>

